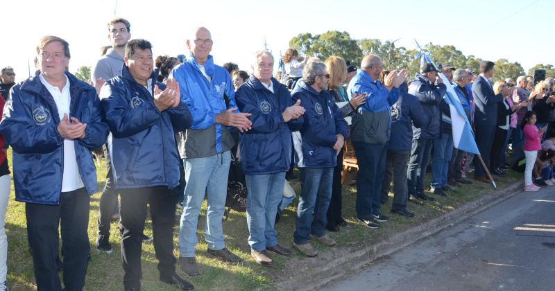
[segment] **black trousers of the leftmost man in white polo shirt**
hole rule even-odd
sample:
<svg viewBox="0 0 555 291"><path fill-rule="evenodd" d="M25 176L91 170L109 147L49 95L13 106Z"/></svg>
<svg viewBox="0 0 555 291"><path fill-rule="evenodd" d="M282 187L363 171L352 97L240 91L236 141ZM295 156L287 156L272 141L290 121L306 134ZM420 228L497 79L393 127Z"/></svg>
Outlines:
<svg viewBox="0 0 555 291"><path fill-rule="evenodd" d="M62 290L56 257L58 256L58 227L62 233L64 255L63 278L65 290L83 290L90 252L90 197L85 188L60 193L60 204L25 204L27 236L33 252L33 267L37 289Z"/></svg>

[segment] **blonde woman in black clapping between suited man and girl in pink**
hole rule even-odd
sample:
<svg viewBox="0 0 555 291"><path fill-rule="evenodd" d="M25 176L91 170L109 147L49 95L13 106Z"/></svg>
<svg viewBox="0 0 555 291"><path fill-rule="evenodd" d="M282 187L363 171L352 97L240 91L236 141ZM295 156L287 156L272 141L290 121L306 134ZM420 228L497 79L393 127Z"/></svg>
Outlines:
<svg viewBox="0 0 555 291"><path fill-rule="evenodd" d="M506 87L507 82L500 80L495 82L493 85L493 91L495 92L495 95L497 95ZM497 105L497 127L495 127L495 137L493 138L490 155L490 170L491 173L495 175L505 175L505 170L499 168L499 161L501 159L501 155L505 155L504 142L506 141L507 134L509 133L511 122L513 122L511 120L511 114L522 107L528 106L527 100L524 100L518 105L514 105L510 94L506 94L503 97L503 102Z"/></svg>

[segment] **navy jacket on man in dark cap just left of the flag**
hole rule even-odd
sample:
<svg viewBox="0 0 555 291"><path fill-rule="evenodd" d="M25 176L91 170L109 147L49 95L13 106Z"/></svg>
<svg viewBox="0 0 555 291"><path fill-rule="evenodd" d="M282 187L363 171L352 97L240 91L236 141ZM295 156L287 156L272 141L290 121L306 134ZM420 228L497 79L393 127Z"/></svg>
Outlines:
<svg viewBox="0 0 555 291"><path fill-rule="evenodd" d="M420 128L413 127L413 139L440 139L441 138L441 110L440 103L445 96L447 86L441 83L431 84L429 80L416 73L409 86L409 94L418 98L424 113L430 118L429 123Z"/></svg>

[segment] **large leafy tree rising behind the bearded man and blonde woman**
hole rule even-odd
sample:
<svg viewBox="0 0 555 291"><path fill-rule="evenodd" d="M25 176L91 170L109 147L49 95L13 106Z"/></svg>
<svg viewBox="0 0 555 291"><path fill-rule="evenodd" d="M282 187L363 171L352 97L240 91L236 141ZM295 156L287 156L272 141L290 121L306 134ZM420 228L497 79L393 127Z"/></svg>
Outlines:
<svg viewBox="0 0 555 291"><path fill-rule="evenodd" d="M332 55L338 55L353 63L362 60L362 51L357 41L352 39L346 31L330 30L321 35L300 33L289 41L289 46L296 48L301 55L325 60Z"/></svg>

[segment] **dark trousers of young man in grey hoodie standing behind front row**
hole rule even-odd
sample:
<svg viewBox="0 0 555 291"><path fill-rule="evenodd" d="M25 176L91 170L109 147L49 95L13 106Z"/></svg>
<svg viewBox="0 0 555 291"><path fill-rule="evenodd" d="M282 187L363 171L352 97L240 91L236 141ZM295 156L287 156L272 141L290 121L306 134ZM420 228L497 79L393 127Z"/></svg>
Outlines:
<svg viewBox="0 0 555 291"><path fill-rule="evenodd" d="M99 206L99 236L110 237L110 223L112 215L117 213L117 192L114 188L114 177L112 175L112 164L110 154L106 156L106 184L100 197Z"/></svg>

